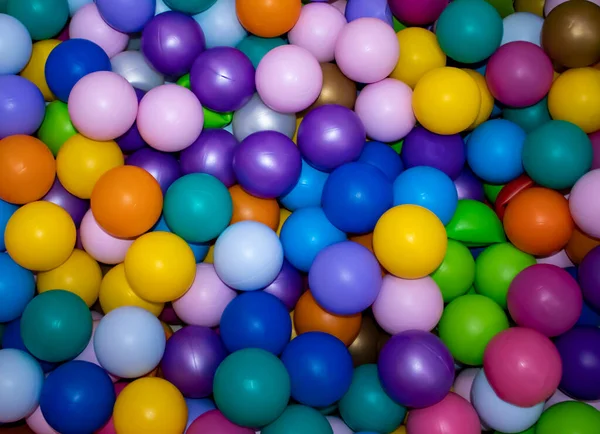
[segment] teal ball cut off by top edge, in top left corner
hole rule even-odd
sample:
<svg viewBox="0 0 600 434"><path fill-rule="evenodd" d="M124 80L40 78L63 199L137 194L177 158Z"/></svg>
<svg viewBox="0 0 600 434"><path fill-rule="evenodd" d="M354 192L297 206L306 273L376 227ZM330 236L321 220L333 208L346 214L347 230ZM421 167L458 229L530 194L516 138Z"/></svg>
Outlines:
<svg viewBox="0 0 600 434"><path fill-rule="evenodd" d="M50 39L60 33L69 19L67 0L8 0L6 13L23 23L31 39Z"/></svg>

